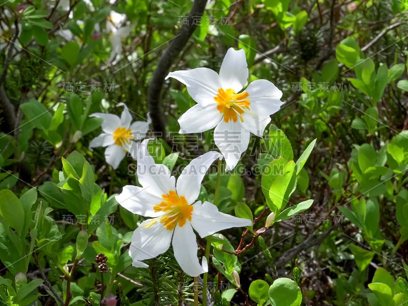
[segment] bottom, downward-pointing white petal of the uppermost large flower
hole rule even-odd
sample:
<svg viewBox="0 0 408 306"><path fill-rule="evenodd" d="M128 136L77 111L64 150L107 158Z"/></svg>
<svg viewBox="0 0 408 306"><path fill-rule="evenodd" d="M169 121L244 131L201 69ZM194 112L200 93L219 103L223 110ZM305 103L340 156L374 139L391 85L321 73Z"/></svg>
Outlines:
<svg viewBox="0 0 408 306"><path fill-rule="evenodd" d="M243 129L241 122L221 120L215 127L214 142L224 156L225 171L234 169L238 164L242 153L248 148L249 137L249 132Z"/></svg>

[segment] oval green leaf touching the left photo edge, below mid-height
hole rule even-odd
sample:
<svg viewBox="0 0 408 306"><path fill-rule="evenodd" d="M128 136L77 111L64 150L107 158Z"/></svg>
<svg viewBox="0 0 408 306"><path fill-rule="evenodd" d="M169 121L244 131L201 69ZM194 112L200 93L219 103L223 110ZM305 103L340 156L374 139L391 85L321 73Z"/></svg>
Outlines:
<svg viewBox="0 0 408 306"><path fill-rule="evenodd" d="M24 210L20 200L8 189L0 190L0 216L18 235L24 227Z"/></svg>

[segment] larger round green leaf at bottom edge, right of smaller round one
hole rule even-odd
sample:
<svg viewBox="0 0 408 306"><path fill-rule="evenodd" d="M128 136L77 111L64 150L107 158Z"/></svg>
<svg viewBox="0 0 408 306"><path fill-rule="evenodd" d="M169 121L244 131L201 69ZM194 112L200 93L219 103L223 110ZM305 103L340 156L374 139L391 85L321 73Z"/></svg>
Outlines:
<svg viewBox="0 0 408 306"><path fill-rule="evenodd" d="M269 297L273 306L299 306L302 294L297 284L290 278L276 279L269 287Z"/></svg>

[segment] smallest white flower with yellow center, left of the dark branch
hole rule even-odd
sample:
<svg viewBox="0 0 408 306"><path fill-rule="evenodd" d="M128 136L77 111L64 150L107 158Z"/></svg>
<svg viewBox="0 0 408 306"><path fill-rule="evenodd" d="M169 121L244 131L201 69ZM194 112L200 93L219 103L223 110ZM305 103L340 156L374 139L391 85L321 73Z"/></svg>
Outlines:
<svg viewBox="0 0 408 306"><path fill-rule="evenodd" d="M123 106L123 112L120 118L113 114L94 113L90 117L103 118L102 130L104 133L94 138L89 144L93 147L107 147L105 150L106 162L114 169L119 166L119 163L124 158L126 152L130 152L131 156L136 159L139 144L136 142L144 138L149 130L150 119L147 121L132 122L132 116L123 103L117 106ZM149 117L147 115L147 117Z"/></svg>

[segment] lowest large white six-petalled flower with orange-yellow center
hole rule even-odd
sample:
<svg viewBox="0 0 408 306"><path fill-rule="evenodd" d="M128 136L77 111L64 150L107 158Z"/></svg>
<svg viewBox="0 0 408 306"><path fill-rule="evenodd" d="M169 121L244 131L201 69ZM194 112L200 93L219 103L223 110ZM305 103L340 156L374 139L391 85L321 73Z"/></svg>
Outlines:
<svg viewBox="0 0 408 306"><path fill-rule="evenodd" d="M208 271L205 258L200 265L194 230L200 237L234 226L249 226L248 219L220 213L210 202L197 201L201 181L211 164L222 156L215 151L192 160L179 179L165 165L155 164L147 151L149 139L139 147L137 174L143 187L125 186L115 198L134 214L151 217L133 233L129 254L133 266L147 267L141 260L164 253L170 242L174 257L184 272L197 276Z"/></svg>

